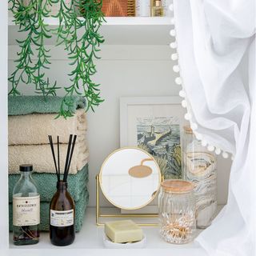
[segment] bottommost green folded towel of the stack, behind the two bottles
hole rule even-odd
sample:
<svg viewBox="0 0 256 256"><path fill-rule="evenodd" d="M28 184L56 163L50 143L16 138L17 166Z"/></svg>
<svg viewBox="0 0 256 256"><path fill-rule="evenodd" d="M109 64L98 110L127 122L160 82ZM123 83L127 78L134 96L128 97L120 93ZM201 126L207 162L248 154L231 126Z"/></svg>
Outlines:
<svg viewBox="0 0 256 256"><path fill-rule="evenodd" d="M79 196L78 202L75 202L75 218L74 227L75 231L79 232L82 228L82 223L85 216L86 206L89 200L89 193L87 190L82 191ZM50 202L41 202L40 204L40 226L41 231L49 231L49 208ZM13 206L9 203L9 229L13 230Z"/></svg>

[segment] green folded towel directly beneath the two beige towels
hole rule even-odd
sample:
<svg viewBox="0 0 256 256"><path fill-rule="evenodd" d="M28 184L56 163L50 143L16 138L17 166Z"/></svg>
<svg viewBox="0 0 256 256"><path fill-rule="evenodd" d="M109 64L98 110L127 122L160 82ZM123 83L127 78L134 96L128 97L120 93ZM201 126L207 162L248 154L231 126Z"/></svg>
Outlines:
<svg viewBox="0 0 256 256"><path fill-rule="evenodd" d="M82 190L85 190L88 182L88 164L79 170L77 174L69 175L67 178L68 190L74 199L78 201ZM9 175L9 202L12 202L12 194L14 190L14 185L18 182L18 174ZM32 178L38 184L38 190L42 202L50 202L54 193L56 192L56 174L32 174Z"/></svg>

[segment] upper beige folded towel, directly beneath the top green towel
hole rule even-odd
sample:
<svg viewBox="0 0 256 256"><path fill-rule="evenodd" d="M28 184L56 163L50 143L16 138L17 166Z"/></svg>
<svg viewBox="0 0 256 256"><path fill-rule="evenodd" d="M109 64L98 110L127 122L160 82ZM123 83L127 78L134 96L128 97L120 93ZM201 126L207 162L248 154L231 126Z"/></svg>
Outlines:
<svg viewBox="0 0 256 256"><path fill-rule="evenodd" d="M56 142L68 143L70 134L77 134L78 142L86 139L86 112L76 110L72 118L54 119L56 114L27 114L9 116L9 145L48 144L48 135Z"/></svg>

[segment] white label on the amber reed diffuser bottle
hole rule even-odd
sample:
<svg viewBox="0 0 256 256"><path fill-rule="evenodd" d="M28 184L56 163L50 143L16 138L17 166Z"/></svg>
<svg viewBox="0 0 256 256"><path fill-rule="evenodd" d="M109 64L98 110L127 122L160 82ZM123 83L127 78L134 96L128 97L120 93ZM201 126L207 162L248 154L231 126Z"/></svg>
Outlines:
<svg viewBox="0 0 256 256"><path fill-rule="evenodd" d="M50 210L51 226L72 226L74 225L74 209L71 210Z"/></svg>

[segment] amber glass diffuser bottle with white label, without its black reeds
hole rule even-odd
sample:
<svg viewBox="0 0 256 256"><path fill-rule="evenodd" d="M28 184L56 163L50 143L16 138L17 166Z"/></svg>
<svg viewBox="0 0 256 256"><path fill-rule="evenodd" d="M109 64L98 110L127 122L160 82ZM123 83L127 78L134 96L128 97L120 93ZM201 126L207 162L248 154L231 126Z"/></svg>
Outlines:
<svg viewBox="0 0 256 256"><path fill-rule="evenodd" d="M74 201L67 182L57 182L57 192L50 202L50 242L68 246L74 242Z"/></svg>

